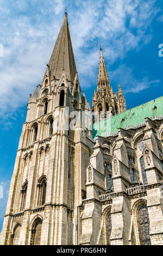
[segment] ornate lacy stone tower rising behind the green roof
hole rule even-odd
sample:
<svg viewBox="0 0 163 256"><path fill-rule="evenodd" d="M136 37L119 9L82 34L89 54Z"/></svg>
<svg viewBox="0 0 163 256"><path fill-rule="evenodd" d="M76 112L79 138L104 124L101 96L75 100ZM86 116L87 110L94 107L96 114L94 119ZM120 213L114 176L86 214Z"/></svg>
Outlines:
<svg viewBox="0 0 163 256"><path fill-rule="evenodd" d="M118 95L112 92L101 48L97 92L94 93L92 98L92 112L95 112L97 118L98 115L101 115L101 118L106 118L126 110L126 100L124 99L120 84Z"/></svg>

